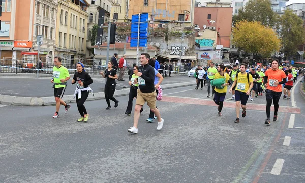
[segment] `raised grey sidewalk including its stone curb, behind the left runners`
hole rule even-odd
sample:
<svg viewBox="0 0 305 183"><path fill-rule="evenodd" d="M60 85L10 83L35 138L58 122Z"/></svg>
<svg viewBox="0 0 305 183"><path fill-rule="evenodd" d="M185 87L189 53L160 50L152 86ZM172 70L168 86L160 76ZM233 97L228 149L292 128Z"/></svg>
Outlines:
<svg viewBox="0 0 305 183"><path fill-rule="evenodd" d="M2 74L1 74L2 75ZM0 85L0 104L26 105L26 106L46 106L55 104L51 77L33 77L33 76L1 76ZM128 76L125 81L117 81L114 96L125 96L129 94ZM71 82L72 79L69 81ZM93 88L94 97L90 94L87 100L104 99L105 79L93 77L94 83L90 85ZM73 99L75 85L70 84L66 88L63 100L66 103L75 102ZM195 85L195 79L188 76L175 76L164 78L162 89Z"/></svg>

